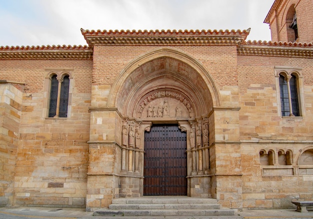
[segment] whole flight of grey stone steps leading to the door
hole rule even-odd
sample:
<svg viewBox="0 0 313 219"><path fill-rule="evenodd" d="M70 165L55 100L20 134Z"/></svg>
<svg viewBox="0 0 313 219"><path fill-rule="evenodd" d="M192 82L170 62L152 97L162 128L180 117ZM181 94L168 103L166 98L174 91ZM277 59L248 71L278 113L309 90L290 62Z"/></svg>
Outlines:
<svg viewBox="0 0 313 219"><path fill-rule="evenodd" d="M221 209L215 199L145 196L114 199L108 209L98 209L93 216L233 216L235 211Z"/></svg>

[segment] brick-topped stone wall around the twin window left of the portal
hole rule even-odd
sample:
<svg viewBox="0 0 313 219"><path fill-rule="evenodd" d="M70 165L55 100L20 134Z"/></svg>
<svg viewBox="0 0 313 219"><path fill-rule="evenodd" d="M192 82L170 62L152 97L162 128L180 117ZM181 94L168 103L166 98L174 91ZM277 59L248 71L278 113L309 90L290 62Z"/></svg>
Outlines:
<svg viewBox="0 0 313 219"><path fill-rule="evenodd" d="M14 126L18 141L10 161L15 166L11 204L84 208L92 61L1 60L0 65L5 66L1 78L25 82L14 114L20 122ZM47 118L47 75L53 71L70 71L67 118Z"/></svg>

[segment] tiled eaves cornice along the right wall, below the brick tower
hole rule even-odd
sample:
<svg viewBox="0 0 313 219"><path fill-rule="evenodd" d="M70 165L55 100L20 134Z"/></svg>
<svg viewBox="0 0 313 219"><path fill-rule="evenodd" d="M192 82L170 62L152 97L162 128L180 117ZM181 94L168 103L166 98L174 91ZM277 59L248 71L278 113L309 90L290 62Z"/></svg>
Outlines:
<svg viewBox="0 0 313 219"><path fill-rule="evenodd" d="M238 55L313 57L312 43L244 41L237 47Z"/></svg>

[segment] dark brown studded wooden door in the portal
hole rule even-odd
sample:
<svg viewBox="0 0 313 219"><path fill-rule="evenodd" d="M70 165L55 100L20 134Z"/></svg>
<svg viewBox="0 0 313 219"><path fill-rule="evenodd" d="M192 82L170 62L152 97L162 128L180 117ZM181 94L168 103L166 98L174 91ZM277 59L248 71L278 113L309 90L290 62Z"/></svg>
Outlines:
<svg viewBox="0 0 313 219"><path fill-rule="evenodd" d="M186 133L153 125L144 134L144 196L186 196Z"/></svg>

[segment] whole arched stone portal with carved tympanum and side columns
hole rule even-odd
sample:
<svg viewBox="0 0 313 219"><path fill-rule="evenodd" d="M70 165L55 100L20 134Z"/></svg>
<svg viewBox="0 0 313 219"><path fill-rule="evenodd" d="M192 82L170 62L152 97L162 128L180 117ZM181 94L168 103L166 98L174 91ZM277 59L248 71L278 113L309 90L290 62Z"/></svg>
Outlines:
<svg viewBox="0 0 313 219"><path fill-rule="evenodd" d="M213 107L220 104L220 98L214 81L196 59L170 48L156 49L136 58L120 72L110 89L107 104L108 107L116 107L121 117L119 197L210 197L208 136L213 133L214 124L211 122L209 125L209 119L211 117L213 121ZM173 173L171 177L155 175L151 169L160 173L166 172L166 167L159 163L146 166L147 153L150 152L144 136L156 124L178 124L175 128L183 133L183 174ZM175 152L180 153L181 150ZM161 162L169 161L162 158ZM177 169L177 166L171 166ZM158 183L148 182L148 178L158 179ZM181 178L182 181L169 183L171 178ZM169 184L159 182L163 180ZM148 187L159 187L160 190L150 192L146 190ZM169 190L172 187L181 187L182 191L172 192Z"/></svg>

